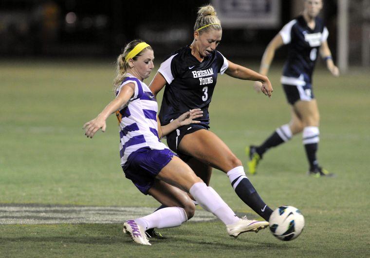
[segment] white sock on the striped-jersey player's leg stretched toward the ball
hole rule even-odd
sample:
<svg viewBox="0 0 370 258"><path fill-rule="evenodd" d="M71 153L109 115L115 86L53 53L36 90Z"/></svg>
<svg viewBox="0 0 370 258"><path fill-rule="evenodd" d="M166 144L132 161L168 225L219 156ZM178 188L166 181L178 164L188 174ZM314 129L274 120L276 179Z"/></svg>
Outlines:
<svg viewBox="0 0 370 258"><path fill-rule="evenodd" d="M239 221L240 218L235 215L212 187L207 187L205 183L198 182L190 187L189 192L204 210L213 213L225 225L231 225Z"/></svg>

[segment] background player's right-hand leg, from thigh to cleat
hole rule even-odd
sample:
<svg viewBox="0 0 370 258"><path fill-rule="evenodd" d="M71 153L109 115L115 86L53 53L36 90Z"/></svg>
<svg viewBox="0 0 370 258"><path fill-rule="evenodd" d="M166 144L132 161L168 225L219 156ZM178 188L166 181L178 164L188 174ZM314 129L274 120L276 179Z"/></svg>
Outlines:
<svg viewBox="0 0 370 258"><path fill-rule="evenodd" d="M316 99L310 101L298 100L294 104L294 110L300 117L303 123L303 145L306 150L306 156L309 162L308 174L316 177L333 176L318 164L316 153L318 149L319 138L319 121L320 115L317 107Z"/></svg>

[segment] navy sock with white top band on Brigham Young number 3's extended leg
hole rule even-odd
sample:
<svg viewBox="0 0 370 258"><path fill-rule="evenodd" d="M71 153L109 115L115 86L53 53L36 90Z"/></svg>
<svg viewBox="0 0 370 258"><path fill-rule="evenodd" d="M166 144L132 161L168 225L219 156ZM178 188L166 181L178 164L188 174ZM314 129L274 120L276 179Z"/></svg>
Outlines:
<svg viewBox="0 0 370 258"><path fill-rule="evenodd" d="M256 189L245 176L244 168L242 166L233 168L227 172L227 177L239 198L251 207L259 216L268 221L273 211L259 197Z"/></svg>

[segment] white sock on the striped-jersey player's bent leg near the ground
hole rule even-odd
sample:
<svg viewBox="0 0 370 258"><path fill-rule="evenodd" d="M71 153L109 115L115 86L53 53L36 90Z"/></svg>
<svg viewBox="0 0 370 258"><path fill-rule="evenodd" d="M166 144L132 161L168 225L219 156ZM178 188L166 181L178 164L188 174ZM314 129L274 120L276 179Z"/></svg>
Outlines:
<svg viewBox="0 0 370 258"><path fill-rule="evenodd" d="M135 222L146 229L178 227L186 220L185 210L180 207L166 207L145 217L135 218Z"/></svg>

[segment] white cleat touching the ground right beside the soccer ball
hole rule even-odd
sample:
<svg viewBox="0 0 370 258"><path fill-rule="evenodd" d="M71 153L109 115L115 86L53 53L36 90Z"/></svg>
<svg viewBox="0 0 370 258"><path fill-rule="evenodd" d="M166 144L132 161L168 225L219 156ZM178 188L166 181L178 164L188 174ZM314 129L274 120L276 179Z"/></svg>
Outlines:
<svg viewBox="0 0 370 258"><path fill-rule="evenodd" d="M259 232L259 230L268 227L269 222L247 219L246 216L240 218L238 222L232 225L226 225L227 233L230 237L237 238L241 233L244 232Z"/></svg>

